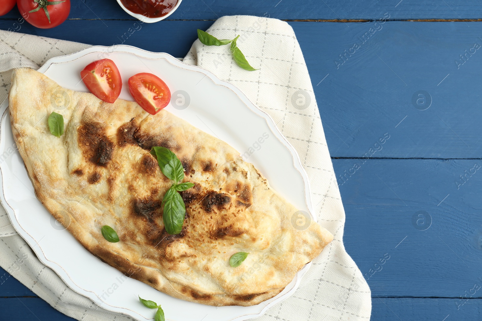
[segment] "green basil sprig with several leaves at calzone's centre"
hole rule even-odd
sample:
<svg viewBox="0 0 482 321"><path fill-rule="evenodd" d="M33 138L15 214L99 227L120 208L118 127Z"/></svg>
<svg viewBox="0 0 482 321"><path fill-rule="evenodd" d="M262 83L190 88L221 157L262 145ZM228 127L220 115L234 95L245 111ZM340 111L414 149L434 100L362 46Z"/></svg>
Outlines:
<svg viewBox="0 0 482 321"><path fill-rule="evenodd" d="M178 184L184 178L184 168L181 161L169 149L160 146L151 148L151 154L157 158L161 172L170 180L174 180L169 190L162 198L164 210L162 213L162 220L164 227L169 234L179 234L182 231L184 217L186 215L186 205L177 192L186 191L194 186L191 182L184 182Z"/></svg>

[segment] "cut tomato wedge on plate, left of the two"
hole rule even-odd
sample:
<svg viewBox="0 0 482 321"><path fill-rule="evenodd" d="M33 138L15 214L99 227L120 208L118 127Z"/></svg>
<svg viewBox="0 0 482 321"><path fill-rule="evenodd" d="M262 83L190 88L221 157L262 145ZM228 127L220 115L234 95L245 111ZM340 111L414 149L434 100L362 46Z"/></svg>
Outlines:
<svg viewBox="0 0 482 321"><path fill-rule="evenodd" d="M95 97L107 103L114 103L122 89L119 69L110 59L96 60L88 64L80 77Z"/></svg>

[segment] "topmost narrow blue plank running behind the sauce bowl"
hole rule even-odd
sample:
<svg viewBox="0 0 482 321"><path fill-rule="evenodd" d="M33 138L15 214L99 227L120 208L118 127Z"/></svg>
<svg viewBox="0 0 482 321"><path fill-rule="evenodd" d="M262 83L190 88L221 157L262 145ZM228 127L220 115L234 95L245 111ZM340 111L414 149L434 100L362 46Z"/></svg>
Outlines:
<svg viewBox="0 0 482 321"><path fill-rule="evenodd" d="M482 7L470 0L288 0L265 1L183 1L168 19L215 20L223 15L248 14L277 19L378 19L389 13L391 19L479 19ZM2 18L15 18L18 11ZM133 19L117 1L72 0L71 19Z"/></svg>

